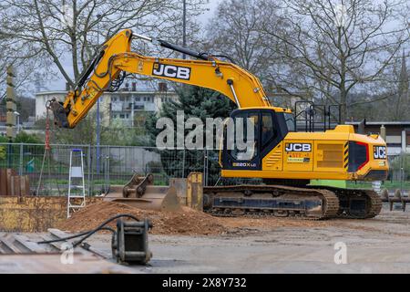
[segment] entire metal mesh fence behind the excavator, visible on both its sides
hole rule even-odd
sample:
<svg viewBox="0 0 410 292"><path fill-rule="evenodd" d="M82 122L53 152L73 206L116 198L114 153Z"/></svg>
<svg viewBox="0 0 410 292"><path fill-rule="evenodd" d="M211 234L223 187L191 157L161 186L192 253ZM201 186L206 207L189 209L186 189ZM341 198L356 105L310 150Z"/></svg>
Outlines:
<svg viewBox="0 0 410 292"><path fill-rule="evenodd" d="M12 168L20 175L28 175L32 193L66 195L69 157L73 149L84 153L87 194L107 193L110 185L124 185L134 173L153 173L158 185L169 184L170 178L187 177L190 172L203 172L205 185L261 183L258 179L220 179L218 151L159 151L156 147L140 146L100 146L97 149L97 146L90 145L52 144L45 159L43 144L0 143L0 168ZM389 163L389 178L381 188L387 188L390 193L397 189L409 193L410 155L391 156ZM374 185L371 182L349 182L347 187L372 189Z"/></svg>

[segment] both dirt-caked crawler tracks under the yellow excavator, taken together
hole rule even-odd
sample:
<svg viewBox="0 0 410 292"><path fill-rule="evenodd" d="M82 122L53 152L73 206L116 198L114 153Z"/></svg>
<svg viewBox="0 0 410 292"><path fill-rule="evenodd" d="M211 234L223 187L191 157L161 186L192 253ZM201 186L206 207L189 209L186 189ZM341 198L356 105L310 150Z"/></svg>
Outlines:
<svg viewBox="0 0 410 292"><path fill-rule="evenodd" d="M382 209L373 191L327 186L243 184L204 187L203 193L204 211L215 216L367 219Z"/></svg>

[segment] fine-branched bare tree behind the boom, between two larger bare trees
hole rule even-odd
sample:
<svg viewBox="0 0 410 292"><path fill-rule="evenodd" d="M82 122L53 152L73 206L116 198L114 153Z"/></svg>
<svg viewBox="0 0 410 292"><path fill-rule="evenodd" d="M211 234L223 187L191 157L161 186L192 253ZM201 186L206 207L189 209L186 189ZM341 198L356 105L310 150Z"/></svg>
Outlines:
<svg viewBox="0 0 410 292"><path fill-rule="evenodd" d="M207 48L221 53L260 78L275 62L272 37L262 36L262 27L275 22L275 4L270 0L220 2L208 25Z"/></svg>

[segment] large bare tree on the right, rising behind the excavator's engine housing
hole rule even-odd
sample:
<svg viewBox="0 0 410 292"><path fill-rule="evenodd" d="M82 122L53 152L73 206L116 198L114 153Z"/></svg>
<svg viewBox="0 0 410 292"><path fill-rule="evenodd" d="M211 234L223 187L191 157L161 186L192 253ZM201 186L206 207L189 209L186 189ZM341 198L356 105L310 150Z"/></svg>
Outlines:
<svg viewBox="0 0 410 292"><path fill-rule="evenodd" d="M281 43L278 53L287 63L272 72L272 82L339 104L344 121L353 89L375 90L388 78L409 40L408 15L402 0L282 1L279 21L263 27Z"/></svg>

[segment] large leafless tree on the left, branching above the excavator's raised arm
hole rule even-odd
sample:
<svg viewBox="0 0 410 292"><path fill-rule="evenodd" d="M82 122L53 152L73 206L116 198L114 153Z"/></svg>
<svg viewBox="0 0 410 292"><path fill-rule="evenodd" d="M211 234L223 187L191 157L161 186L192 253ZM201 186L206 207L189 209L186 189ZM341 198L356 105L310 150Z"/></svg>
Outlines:
<svg viewBox="0 0 410 292"><path fill-rule="evenodd" d="M189 16L199 14L203 3L190 1ZM73 87L95 55L98 40L102 43L125 28L151 36L181 36L176 21L181 5L179 0L3 0L0 45L24 48L14 50L9 59L38 57L36 66L51 61Z"/></svg>

